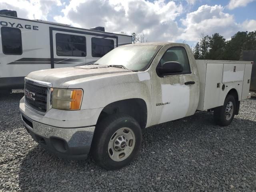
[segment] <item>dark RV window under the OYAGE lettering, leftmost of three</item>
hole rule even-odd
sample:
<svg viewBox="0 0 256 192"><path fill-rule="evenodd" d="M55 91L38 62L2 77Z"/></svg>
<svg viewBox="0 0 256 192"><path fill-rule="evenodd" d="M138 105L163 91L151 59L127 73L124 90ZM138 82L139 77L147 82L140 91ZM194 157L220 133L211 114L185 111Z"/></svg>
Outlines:
<svg viewBox="0 0 256 192"><path fill-rule="evenodd" d="M22 40L21 31L18 28L2 27L2 49L6 55L21 55Z"/></svg>

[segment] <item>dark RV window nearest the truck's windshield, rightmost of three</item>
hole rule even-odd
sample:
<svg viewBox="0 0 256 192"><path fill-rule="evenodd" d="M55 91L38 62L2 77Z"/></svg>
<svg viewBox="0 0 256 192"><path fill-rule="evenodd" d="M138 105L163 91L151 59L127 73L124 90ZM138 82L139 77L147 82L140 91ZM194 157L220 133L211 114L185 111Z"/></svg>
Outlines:
<svg viewBox="0 0 256 192"><path fill-rule="evenodd" d="M92 38L92 56L102 57L114 49L114 40L103 38Z"/></svg>

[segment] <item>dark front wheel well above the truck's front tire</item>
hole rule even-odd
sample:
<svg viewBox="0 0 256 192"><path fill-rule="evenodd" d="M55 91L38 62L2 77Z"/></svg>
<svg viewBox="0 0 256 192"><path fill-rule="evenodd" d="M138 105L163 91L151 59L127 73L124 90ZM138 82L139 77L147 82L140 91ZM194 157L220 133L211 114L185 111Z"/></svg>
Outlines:
<svg viewBox="0 0 256 192"><path fill-rule="evenodd" d="M108 104L98 118L97 124L107 116L122 113L132 116L141 128L145 128L147 124L147 106L146 102L140 98L126 99Z"/></svg>

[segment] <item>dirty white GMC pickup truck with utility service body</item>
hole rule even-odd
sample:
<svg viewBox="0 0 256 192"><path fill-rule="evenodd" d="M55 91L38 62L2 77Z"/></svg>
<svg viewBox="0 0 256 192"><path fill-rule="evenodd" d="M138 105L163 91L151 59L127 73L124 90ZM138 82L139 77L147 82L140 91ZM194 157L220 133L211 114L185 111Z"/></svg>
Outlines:
<svg viewBox="0 0 256 192"><path fill-rule="evenodd" d="M64 158L88 153L108 170L131 162L141 129L214 111L220 126L250 97L252 62L195 60L187 44L115 48L96 63L31 72L20 100L32 138Z"/></svg>

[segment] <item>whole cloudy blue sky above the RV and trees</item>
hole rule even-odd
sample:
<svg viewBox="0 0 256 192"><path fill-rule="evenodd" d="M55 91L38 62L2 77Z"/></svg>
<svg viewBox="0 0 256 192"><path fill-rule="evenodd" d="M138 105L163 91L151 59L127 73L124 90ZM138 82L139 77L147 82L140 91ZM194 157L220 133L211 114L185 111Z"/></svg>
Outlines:
<svg viewBox="0 0 256 192"><path fill-rule="evenodd" d="M256 30L256 0L0 0L19 17L108 32L143 34L148 41L186 41Z"/></svg>

